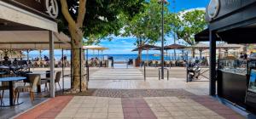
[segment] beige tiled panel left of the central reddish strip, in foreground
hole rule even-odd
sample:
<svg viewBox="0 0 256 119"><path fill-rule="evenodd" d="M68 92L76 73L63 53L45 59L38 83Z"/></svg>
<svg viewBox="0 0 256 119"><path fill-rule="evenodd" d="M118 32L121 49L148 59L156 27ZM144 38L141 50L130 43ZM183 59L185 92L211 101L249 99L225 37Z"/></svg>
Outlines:
<svg viewBox="0 0 256 119"><path fill-rule="evenodd" d="M56 118L124 118L121 99L103 97L74 97Z"/></svg>

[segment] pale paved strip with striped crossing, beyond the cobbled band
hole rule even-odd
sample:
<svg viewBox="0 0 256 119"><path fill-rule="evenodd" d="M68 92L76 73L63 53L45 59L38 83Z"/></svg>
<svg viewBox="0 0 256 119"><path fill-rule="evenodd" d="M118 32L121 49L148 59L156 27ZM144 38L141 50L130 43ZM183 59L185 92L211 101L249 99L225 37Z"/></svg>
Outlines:
<svg viewBox="0 0 256 119"><path fill-rule="evenodd" d="M165 89L183 88L190 93L207 95L209 82L186 82L185 78L170 77L167 81L158 77L147 77L144 81L143 72L131 69L99 69L90 74L89 88L110 89Z"/></svg>

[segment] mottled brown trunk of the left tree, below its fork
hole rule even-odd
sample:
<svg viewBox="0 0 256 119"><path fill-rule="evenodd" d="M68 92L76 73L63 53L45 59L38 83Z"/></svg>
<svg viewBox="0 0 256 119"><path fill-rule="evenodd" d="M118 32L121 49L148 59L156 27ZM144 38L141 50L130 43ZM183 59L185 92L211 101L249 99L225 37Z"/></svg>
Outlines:
<svg viewBox="0 0 256 119"><path fill-rule="evenodd" d="M69 26L69 31L72 38L72 68L73 68L73 83L71 84L71 88L73 91L78 92L80 89L80 76L81 75L81 89L85 91L87 89L87 80L84 76L84 50L82 48L83 36L79 34L79 29L73 29ZM82 49L80 51L80 49ZM80 54L81 53L81 54ZM80 58L81 56L81 58ZM80 60L81 59L81 60ZM81 64L81 65L80 65ZM81 67L81 68L80 68ZM80 74L81 70L81 74Z"/></svg>

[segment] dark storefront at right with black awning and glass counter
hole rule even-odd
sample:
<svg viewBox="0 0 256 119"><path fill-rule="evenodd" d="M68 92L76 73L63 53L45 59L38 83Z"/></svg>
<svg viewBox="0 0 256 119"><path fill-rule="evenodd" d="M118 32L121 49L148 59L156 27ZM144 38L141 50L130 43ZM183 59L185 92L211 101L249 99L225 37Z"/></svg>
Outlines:
<svg viewBox="0 0 256 119"><path fill-rule="evenodd" d="M209 94L217 94L255 113L255 79L253 83L249 80L253 77L251 71L256 68L256 61L248 60L235 65L236 60L216 60L216 42L256 43L256 0L211 0L206 19L208 29L196 34L195 41L210 41ZM232 68L225 68L227 64ZM252 85L253 88L248 90L248 86Z"/></svg>

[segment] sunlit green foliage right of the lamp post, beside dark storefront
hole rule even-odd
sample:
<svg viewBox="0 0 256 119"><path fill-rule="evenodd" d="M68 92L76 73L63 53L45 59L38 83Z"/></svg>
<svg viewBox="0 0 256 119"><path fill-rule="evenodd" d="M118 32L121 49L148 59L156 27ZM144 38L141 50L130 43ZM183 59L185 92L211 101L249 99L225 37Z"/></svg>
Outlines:
<svg viewBox="0 0 256 119"><path fill-rule="evenodd" d="M172 24L170 24L172 26L172 33L177 36L177 39L183 39L189 45L194 45L195 34L207 27L205 11L203 10L195 9L177 14L169 14L169 19L172 20Z"/></svg>

